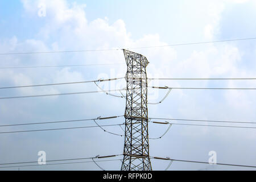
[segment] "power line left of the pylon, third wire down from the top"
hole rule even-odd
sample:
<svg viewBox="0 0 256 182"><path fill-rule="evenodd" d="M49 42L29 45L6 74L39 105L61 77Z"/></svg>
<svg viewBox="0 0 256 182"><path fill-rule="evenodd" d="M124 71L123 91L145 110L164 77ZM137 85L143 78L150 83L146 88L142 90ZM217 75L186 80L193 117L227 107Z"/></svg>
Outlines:
<svg viewBox="0 0 256 182"><path fill-rule="evenodd" d="M123 78L123 77L122 77ZM13 89L13 88L26 88L26 87L35 87L35 86L52 86L52 85L68 85L68 84L84 84L89 82L102 82L102 81L112 81L112 80L119 80L122 78L109 78L105 80L90 80L90 81L77 81L77 82L63 82L63 83L55 83L55 84L40 84L40 85L23 85L23 86L5 86L0 87L0 89Z"/></svg>

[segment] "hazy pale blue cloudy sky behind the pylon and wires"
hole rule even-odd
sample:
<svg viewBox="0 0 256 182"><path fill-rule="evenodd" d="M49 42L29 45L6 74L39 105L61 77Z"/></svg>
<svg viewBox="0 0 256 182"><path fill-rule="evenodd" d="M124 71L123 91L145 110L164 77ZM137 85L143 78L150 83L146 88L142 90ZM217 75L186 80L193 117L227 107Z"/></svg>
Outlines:
<svg viewBox="0 0 256 182"><path fill-rule="evenodd" d="M39 5L46 16L39 16ZM175 43L255 37L255 1L0 1L0 53L113 49L163 46ZM256 42L244 40L193 46L132 49L147 57L148 77L214 78L255 77ZM122 51L0 55L0 67L73 64L125 64ZM123 77L126 65L71 68L0 69L1 86L19 86ZM125 81L101 84L120 88ZM255 88L255 81L159 81L149 85L182 87ZM2 89L1 97L85 92L94 84ZM119 94L119 93L117 93ZM157 102L164 90L148 90L148 101ZM255 90L172 90L160 105L148 105L149 117L256 121ZM0 101L0 124L61 121L122 115L125 100L106 94L80 94ZM124 118L103 120L101 125L123 123ZM192 123L198 122L181 122ZM201 123L213 124L213 123ZM221 123L216 123L221 125ZM92 126L93 122L0 127L0 132ZM224 125L224 124L223 124ZM234 125L229 126L245 126ZM253 124L246 126L255 126ZM150 137L159 137L167 126L149 124ZM119 127L108 130L122 133ZM150 140L150 155L208 162L209 151L217 163L256 165L255 129L178 126L159 140ZM0 134L0 163L86 158L122 154L123 137L100 128ZM168 161L151 160L154 170ZM119 170L121 162L102 162L106 170ZM4 169L4 168L1 168ZM18 170L18 168L6 168ZM22 167L20 170L99 170L94 163ZM174 162L169 170L248 169Z"/></svg>

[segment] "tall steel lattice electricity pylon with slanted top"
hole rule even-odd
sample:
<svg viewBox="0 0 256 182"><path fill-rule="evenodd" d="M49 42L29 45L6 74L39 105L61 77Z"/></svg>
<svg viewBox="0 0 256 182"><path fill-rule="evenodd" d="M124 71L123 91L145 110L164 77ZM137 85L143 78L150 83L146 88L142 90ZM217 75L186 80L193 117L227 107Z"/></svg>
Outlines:
<svg viewBox="0 0 256 182"><path fill-rule="evenodd" d="M127 64L122 171L151 171L148 145L147 58L123 49Z"/></svg>

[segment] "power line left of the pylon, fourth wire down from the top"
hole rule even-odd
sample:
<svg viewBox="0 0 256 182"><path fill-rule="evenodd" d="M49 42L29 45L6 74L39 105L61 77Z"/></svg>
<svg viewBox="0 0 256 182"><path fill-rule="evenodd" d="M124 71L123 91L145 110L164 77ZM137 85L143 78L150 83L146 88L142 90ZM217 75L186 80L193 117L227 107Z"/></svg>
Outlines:
<svg viewBox="0 0 256 182"><path fill-rule="evenodd" d="M114 89L114 90L104 90L104 92L117 92L126 89ZM13 98L29 98L29 97L48 97L48 96L64 96L72 94L87 94L87 93L103 93L103 91L90 91L90 92L73 92L73 93L56 93L56 94L43 94L43 95L34 95L34 96L18 96L18 97L0 97L0 100L4 99L13 99Z"/></svg>

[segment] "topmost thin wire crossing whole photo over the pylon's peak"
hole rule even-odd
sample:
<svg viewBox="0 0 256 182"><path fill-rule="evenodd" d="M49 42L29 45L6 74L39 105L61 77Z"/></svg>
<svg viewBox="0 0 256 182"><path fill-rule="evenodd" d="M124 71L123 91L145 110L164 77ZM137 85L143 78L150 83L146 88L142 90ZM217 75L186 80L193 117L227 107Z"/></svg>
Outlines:
<svg viewBox="0 0 256 182"><path fill-rule="evenodd" d="M244 38L244 39L226 39L226 40L216 40L209 42L193 42L193 43L180 43L180 44L168 44L164 46L145 46L145 47L133 47L126 49L143 49L143 48L160 48L160 47L172 47L172 46L187 46L195 44L209 44L209 43L220 43L220 42L235 42L239 40L253 40L256 38ZM119 51L123 48L113 48L113 49L87 49L87 50L73 50L73 51L39 51L39 52L6 52L0 53L0 55L27 55L27 54L36 54L36 53L74 53L74 52L98 52L98 51Z"/></svg>

